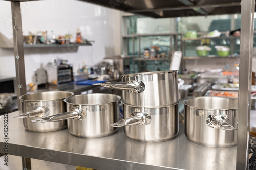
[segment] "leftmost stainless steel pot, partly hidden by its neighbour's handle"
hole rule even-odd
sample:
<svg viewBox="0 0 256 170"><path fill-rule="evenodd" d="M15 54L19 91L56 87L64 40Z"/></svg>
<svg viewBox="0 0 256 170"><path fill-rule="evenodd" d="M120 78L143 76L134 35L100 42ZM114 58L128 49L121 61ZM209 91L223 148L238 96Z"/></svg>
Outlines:
<svg viewBox="0 0 256 170"><path fill-rule="evenodd" d="M51 132L67 128L65 120L53 124L36 124L31 120L66 112L66 103L63 100L73 94L68 91L48 91L22 95L19 99L23 114L17 118L23 118L24 127L33 132Z"/></svg>

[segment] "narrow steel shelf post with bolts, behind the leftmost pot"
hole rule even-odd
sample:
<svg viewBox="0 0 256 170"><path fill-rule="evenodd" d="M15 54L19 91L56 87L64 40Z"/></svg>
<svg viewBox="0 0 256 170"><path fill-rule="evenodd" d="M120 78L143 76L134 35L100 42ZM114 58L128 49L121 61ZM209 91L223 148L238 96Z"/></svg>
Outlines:
<svg viewBox="0 0 256 170"><path fill-rule="evenodd" d="M16 66L16 84L17 97L26 94L25 80L25 64L24 64L24 49L22 35L22 14L20 11L20 2L11 2L12 8L12 26L13 26L13 41L14 41L14 57ZM18 109L21 110L20 101L18 100Z"/></svg>

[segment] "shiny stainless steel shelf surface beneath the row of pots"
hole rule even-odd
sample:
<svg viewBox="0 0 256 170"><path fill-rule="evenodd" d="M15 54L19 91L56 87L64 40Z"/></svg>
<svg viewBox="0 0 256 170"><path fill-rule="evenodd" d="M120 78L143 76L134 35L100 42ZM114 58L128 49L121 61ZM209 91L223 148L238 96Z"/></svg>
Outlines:
<svg viewBox="0 0 256 170"><path fill-rule="evenodd" d="M101 138L79 138L68 129L30 132L23 120L8 114L8 154L94 169L236 169L237 147L210 148L190 142L183 124L172 140L137 142L117 133ZM4 116L0 116L0 152L4 153ZM9 162L11 163L11 162Z"/></svg>

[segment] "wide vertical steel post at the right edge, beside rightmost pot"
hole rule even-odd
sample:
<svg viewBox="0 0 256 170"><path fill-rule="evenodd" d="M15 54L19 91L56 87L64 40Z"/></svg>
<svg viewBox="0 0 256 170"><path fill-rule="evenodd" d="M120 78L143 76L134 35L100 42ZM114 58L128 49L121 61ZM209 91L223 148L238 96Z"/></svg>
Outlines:
<svg viewBox="0 0 256 170"><path fill-rule="evenodd" d="M248 169L249 166L251 67L255 0L242 0L241 6L237 170Z"/></svg>

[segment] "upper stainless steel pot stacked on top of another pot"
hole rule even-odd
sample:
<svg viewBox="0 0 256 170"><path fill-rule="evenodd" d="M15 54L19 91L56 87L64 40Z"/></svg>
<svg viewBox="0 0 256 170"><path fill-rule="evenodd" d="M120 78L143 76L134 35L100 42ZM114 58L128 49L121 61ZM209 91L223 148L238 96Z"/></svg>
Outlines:
<svg viewBox="0 0 256 170"><path fill-rule="evenodd" d="M124 103L134 106L166 106L179 102L177 70L121 75L122 82L100 85L122 90Z"/></svg>

